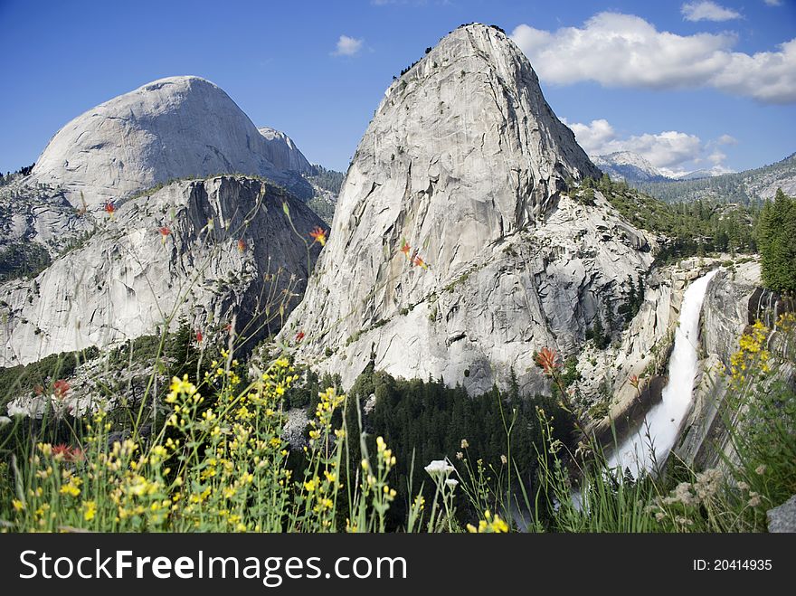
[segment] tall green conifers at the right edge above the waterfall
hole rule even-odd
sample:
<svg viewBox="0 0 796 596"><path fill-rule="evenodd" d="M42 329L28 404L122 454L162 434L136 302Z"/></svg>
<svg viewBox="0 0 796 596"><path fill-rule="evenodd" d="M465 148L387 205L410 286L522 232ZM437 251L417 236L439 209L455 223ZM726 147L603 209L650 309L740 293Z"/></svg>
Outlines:
<svg viewBox="0 0 796 596"><path fill-rule="evenodd" d="M777 190L763 204L757 222L763 284L777 292L796 292L796 200Z"/></svg>

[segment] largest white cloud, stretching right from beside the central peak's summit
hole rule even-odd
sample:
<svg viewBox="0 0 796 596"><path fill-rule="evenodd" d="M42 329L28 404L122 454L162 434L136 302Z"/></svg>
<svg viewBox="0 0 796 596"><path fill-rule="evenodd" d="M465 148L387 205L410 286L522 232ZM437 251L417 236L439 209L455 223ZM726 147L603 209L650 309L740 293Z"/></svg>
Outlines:
<svg viewBox="0 0 796 596"><path fill-rule="evenodd" d="M734 33L659 32L639 16L600 13L550 32L520 24L511 35L546 83L606 87L713 87L764 103L796 102L796 38L776 52L732 52Z"/></svg>

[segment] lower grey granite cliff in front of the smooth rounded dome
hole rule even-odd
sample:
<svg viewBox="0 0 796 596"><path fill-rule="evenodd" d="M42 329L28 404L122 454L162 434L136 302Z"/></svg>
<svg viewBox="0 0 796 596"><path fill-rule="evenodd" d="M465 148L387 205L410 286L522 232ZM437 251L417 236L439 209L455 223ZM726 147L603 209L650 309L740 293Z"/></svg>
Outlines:
<svg viewBox="0 0 796 596"><path fill-rule="evenodd" d="M35 279L0 285L0 366L149 335L180 317L205 333L233 316L241 332L256 317L246 335L274 333L317 257L304 239L322 225L280 188L241 176L176 182L112 218L83 219L90 232L71 251Z"/></svg>

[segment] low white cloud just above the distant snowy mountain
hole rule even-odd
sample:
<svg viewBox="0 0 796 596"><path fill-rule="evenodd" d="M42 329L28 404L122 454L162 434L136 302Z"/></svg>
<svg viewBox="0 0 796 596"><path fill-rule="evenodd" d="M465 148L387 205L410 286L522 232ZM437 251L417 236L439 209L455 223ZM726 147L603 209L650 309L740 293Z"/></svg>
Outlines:
<svg viewBox="0 0 796 596"><path fill-rule="evenodd" d="M645 157L664 175L672 177L695 170L704 160L711 162L714 169L718 167L729 171L724 166L727 156L715 146L737 143L729 135L722 135L715 141L705 143L696 135L677 130L621 137L604 118L592 120L589 124L567 122L564 118L564 123L572 128L578 144L590 156L631 151Z"/></svg>

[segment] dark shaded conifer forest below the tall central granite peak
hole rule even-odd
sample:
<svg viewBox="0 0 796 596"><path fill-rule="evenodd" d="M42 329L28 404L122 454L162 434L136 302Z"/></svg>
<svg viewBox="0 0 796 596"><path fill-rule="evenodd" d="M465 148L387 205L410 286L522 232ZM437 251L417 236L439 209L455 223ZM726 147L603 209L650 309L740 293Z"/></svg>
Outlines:
<svg viewBox="0 0 796 596"><path fill-rule="evenodd" d="M357 411L363 412L372 396L373 410L364 418L368 441L382 436L399 456L395 470L398 481L393 483L399 497L391 509L396 520L405 516L410 485L412 493L416 494L423 485L426 498L433 497L433 483L423 469L433 459L449 458L460 474L465 474L464 459L472 468L481 459L493 481L500 474L505 478L513 461L526 487L532 487L536 449L542 444L537 407L553 416L556 439L567 445L573 441L573 418L558 401L543 395L523 395L516 381L505 392L493 388L473 396L460 385L448 387L431 379L395 379L374 371L371 365L348 392L348 428L358 428ZM467 441L466 449L462 448L462 440ZM352 460L359 461L358 447L352 448ZM368 449L374 449L374 445L368 445ZM512 473L516 474L516 470ZM514 478L514 488L518 490ZM468 504L462 498L457 506L464 511Z"/></svg>

